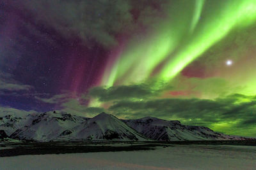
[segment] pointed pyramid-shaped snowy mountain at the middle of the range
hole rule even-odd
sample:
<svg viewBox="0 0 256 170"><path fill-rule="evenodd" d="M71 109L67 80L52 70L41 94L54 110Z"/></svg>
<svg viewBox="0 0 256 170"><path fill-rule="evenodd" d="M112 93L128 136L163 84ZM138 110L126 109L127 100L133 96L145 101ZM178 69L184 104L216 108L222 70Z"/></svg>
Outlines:
<svg viewBox="0 0 256 170"><path fill-rule="evenodd" d="M107 113L100 113L78 125L70 134L72 139L145 141L145 137L127 124Z"/></svg>

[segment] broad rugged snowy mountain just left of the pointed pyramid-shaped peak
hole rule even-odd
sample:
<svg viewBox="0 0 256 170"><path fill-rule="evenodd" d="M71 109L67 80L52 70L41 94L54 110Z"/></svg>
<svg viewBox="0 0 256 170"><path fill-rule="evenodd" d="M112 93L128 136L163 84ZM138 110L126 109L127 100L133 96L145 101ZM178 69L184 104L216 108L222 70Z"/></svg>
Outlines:
<svg viewBox="0 0 256 170"><path fill-rule="evenodd" d="M52 141L72 133L72 129L88 118L77 117L67 113L30 114L22 121L23 127L10 136L15 139L35 141Z"/></svg>

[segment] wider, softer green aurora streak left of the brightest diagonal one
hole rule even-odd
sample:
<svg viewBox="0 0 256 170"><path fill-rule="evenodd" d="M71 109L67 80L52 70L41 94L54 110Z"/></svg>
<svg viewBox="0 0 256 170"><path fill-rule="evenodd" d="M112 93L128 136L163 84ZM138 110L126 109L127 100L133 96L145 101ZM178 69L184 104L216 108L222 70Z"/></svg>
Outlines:
<svg viewBox="0 0 256 170"><path fill-rule="evenodd" d="M186 30L191 25L193 2L166 6L170 10L166 18L154 25L150 36L138 36L129 41L129 45L120 54L113 69L106 71L102 85L111 86L116 81L132 83L145 80L152 71L172 53ZM184 13L184 11L186 11Z"/></svg>

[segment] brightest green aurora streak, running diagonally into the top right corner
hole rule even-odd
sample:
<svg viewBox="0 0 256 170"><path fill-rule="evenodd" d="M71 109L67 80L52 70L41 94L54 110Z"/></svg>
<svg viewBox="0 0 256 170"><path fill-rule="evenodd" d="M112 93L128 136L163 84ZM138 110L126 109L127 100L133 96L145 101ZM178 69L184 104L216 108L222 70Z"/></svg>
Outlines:
<svg viewBox="0 0 256 170"><path fill-rule="evenodd" d="M206 15L210 22L198 25L198 31L177 55L170 58L161 71L161 77L172 79L190 62L199 57L209 47L225 37L236 26L249 25L256 19L256 1L233 1L214 16ZM250 13L250 17L248 17Z"/></svg>

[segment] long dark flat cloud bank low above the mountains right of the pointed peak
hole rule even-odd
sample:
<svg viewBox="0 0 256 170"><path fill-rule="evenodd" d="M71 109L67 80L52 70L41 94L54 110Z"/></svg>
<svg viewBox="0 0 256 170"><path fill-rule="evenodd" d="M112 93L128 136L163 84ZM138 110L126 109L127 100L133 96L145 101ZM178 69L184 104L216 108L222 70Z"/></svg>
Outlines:
<svg viewBox="0 0 256 170"><path fill-rule="evenodd" d="M212 113L227 111L224 103L207 99L153 99L146 101L116 101L109 110L113 113L136 113L143 116L153 115L161 117L179 117L182 119L202 118L215 121L215 117L210 118ZM127 114L129 116L129 114Z"/></svg>

